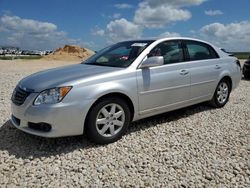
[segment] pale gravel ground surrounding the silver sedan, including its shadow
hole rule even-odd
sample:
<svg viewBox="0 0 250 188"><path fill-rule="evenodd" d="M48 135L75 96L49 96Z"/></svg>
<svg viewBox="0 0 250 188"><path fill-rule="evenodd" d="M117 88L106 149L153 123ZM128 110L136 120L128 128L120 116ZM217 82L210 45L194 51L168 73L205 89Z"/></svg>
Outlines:
<svg viewBox="0 0 250 188"><path fill-rule="evenodd" d="M62 64L0 61L0 187L250 187L250 81L222 109L200 104L144 119L106 146L14 128L17 81Z"/></svg>

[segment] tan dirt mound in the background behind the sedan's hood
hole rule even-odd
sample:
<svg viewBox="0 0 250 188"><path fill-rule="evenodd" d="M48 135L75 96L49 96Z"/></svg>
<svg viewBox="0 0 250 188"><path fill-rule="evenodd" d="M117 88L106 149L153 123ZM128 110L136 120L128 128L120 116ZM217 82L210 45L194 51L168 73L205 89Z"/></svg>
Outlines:
<svg viewBox="0 0 250 188"><path fill-rule="evenodd" d="M85 60L94 54L87 48L81 48L75 45L65 45L63 48L56 49L53 53L44 57L47 60Z"/></svg>

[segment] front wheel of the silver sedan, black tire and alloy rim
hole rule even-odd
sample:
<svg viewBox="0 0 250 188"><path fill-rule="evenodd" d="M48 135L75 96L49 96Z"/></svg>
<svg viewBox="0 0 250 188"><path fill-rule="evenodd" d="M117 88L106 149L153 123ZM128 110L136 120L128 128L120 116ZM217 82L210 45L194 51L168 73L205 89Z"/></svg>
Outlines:
<svg viewBox="0 0 250 188"><path fill-rule="evenodd" d="M87 137L97 144L119 140L130 123L131 113L127 103L114 97L104 98L89 111L86 120Z"/></svg>

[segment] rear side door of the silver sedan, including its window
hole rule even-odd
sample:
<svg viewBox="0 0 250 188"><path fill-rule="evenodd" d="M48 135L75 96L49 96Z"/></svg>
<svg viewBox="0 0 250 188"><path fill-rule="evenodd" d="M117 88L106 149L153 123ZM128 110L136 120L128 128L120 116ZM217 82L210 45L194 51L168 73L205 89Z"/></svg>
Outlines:
<svg viewBox="0 0 250 188"><path fill-rule="evenodd" d="M219 56L210 45L202 42L185 41L184 46L190 64L190 97L192 100L209 99L222 70Z"/></svg>

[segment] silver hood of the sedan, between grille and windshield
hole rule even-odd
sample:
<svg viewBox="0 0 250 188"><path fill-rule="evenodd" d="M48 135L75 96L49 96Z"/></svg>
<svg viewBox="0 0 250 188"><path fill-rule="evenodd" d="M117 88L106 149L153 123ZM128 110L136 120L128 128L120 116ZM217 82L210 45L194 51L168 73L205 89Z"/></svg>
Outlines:
<svg viewBox="0 0 250 188"><path fill-rule="evenodd" d="M120 69L121 68L116 67L84 64L70 65L37 72L22 79L18 85L20 88L30 92L41 92L45 89L63 85L66 82L109 73Z"/></svg>

